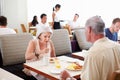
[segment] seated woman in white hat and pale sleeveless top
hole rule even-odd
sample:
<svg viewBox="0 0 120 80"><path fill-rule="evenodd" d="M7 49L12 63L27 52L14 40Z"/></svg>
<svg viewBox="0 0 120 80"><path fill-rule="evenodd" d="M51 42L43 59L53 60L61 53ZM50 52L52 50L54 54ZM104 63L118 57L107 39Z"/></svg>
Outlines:
<svg viewBox="0 0 120 80"><path fill-rule="evenodd" d="M41 60L44 56L55 57L55 49L52 41L52 30L50 27L43 26L37 31L36 39L29 42L25 59L26 62L32 62ZM26 68L23 70L26 74L33 75L37 80L47 80L44 76L41 76L33 71L29 71Z"/></svg>

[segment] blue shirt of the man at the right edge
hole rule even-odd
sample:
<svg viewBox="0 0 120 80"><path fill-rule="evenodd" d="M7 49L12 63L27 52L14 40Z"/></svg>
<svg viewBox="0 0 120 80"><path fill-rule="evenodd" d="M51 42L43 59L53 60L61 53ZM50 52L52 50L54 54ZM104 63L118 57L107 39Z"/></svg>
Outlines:
<svg viewBox="0 0 120 80"><path fill-rule="evenodd" d="M113 40L113 41L118 40L118 33L117 32L111 33L109 28L105 29L105 36L108 37L110 40Z"/></svg>

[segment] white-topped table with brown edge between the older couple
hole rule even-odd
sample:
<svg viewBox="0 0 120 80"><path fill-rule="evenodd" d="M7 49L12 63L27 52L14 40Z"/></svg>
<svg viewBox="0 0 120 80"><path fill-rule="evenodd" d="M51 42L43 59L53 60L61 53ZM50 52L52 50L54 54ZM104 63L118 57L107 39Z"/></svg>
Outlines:
<svg viewBox="0 0 120 80"><path fill-rule="evenodd" d="M59 68L56 68L56 64L54 61L49 62L49 64L47 65L43 65L42 60L24 63L24 67L50 80L60 80L60 73L63 70L67 70L70 73L70 75L76 79L80 78L82 69L71 70L68 69L67 67L75 62L83 66L84 61L68 56L58 56L57 59L59 60L60 64Z"/></svg>

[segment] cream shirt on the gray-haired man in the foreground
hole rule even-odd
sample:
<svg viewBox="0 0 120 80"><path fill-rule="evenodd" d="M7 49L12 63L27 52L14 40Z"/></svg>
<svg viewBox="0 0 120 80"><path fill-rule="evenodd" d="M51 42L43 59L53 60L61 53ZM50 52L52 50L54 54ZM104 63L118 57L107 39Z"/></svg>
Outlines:
<svg viewBox="0 0 120 80"><path fill-rule="evenodd" d="M81 80L110 80L117 69L120 69L120 44L105 37L88 50Z"/></svg>

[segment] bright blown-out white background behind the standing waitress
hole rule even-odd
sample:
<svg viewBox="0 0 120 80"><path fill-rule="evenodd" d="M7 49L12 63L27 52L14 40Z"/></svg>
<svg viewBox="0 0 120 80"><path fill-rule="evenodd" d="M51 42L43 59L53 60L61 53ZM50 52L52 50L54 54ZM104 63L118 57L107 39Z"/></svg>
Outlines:
<svg viewBox="0 0 120 80"><path fill-rule="evenodd" d="M119 0L28 0L28 21L34 15L41 13L48 15L48 21L52 18L52 9L55 4L61 4L60 12L63 20L73 19L73 15L80 15L79 22L84 26L86 20L95 15L99 15L106 23L106 27L111 26L113 18L120 17Z"/></svg>

